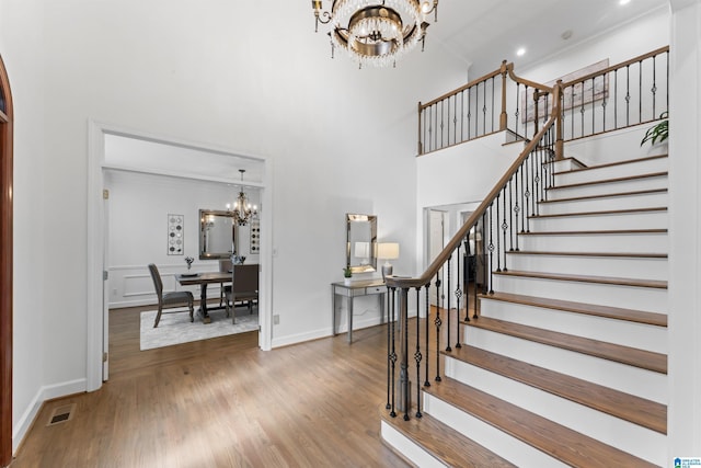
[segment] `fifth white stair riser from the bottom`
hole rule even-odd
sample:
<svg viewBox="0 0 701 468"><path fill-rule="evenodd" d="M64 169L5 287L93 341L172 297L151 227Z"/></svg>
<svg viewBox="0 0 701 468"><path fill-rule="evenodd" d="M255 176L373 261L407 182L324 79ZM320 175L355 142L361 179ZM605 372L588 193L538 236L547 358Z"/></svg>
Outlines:
<svg viewBox="0 0 701 468"><path fill-rule="evenodd" d="M667 329L664 327L489 299L480 301L480 315L622 346L667 353Z"/></svg>

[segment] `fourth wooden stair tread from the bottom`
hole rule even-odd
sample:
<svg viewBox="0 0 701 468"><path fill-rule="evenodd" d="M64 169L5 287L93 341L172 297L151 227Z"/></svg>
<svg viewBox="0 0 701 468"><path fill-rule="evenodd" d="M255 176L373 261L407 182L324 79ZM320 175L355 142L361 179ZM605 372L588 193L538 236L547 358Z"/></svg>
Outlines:
<svg viewBox="0 0 701 468"><path fill-rule="evenodd" d="M490 317L480 317L469 322L469 327L507 334L522 340L560 347L607 361L627 364L642 369L667 374L667 356L652 351L639 350L605 341L582 338L573 334L543 330L520 323L507 322Z"/></svg>

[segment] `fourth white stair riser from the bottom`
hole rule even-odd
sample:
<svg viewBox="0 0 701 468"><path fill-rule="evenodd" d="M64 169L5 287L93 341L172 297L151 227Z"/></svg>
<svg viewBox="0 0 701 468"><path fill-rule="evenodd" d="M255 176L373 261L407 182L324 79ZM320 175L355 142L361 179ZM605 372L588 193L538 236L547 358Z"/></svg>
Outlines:
<svg viewBox="0 0 701 468"><path fill-rule="evenodd" d="M464 328L466 343L471 346L667 404L664 374L470 326Z"/></svg>

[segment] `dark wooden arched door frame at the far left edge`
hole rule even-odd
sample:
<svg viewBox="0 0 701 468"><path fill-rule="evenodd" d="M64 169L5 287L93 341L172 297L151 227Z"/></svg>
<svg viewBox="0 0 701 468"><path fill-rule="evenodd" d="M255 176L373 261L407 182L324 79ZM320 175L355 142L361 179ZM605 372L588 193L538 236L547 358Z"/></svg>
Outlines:
<svg viewBox="0 0 701 468"><path fill-rule="evenodd" d="M0 466L12 460L12 93L0 57L0 96L5 112L0 112Z"/></svg>

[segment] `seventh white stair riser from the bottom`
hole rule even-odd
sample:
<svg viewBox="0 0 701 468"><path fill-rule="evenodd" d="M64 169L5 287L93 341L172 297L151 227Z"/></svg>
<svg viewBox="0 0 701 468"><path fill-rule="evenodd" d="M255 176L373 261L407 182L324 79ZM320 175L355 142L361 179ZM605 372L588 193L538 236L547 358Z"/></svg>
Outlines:
<svg viewBox="0 0 701 468"><path fill-rule="evenodd" d="M612 276L639 279L668 277L667 259L507 254L509 270ZM503 267L503 266L502 266Z"/></svg>

